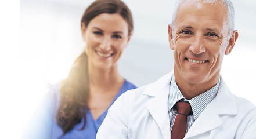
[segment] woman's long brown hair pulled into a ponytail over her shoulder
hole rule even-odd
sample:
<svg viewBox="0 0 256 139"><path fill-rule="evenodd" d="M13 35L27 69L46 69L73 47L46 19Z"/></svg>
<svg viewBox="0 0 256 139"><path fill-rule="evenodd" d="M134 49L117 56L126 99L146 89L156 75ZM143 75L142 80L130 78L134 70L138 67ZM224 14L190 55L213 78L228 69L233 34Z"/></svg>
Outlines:
<svg viewBox="0 0 256 139"><path fill-rule="evenodd" d="M120 0L96 0L84 12L81 23L88 27L89 22L102 13L118 13L128 23L128 32L133 30L132 14L127 5ZM57 125L63 130L63 135L73 129L75 124L81 123L88 112L89 76L87 54L82 54L74 61L69 75L60 86L60 105L55 116Z"/></svg>

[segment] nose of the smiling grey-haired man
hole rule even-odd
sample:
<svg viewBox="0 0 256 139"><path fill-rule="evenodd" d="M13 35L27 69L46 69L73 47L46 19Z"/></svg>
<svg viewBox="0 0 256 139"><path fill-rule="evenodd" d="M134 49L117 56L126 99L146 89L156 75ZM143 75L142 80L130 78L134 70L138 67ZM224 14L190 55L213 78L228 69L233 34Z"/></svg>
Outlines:
<svg viewBox="0 0 256 139"><path fill-rule="evenodd" d="M205 52L204 36L195 36L194 41L189 47L194 54L200 54Z"/></svg>

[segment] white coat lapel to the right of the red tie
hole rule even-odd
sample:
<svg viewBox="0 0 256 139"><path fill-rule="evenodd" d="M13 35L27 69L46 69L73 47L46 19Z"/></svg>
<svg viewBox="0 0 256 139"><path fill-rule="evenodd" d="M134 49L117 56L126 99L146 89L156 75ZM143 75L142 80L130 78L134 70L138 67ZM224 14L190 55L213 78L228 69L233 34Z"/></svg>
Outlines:
<svg viewBox="0 0 256 139"><path fill-rule="evenodd" d="M219 115L236 115L237 108L235 97L230 93L225 82L221 78L221 84L217 96L204 111L199 115L199 118L190 127L185 138L197 136L207 131L211 131L222 125ZM210 133L208 134L210 136Z"/></svg>

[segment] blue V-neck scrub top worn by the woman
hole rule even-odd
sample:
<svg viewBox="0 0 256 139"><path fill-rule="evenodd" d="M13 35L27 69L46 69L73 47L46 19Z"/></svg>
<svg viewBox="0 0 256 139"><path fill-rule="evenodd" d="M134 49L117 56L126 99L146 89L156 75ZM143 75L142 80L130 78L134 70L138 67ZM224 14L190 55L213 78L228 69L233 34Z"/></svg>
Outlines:
<svg viewBox="0 0 256 139"><path fill-rule="evenodd" d="M116 99L121 96L122 93L130 89L135 89L136 87L125 80L121 89L119 90L117 96L114 98L110 106L116 101ZM74 128L68 131L63 136L63 131L59 125L57 125L55 120L55 115L57 108L59 108L60 101L60 83L52 87L51 90L46 94L44 100L41 102L33 118L30 120L30 124L24 130L24 134L21 138L27 139L40 139L40 138L86 138L94 139L96 138L96 133L102 124L104 118L107 115L107 110L103 112L102 115L95 121L92 118L91 111L86 114L86 125L85 128L80 130L84 125L84 118L82 118L81 123L78 123ZM109 107L110 107L109 106Z"/></svg>

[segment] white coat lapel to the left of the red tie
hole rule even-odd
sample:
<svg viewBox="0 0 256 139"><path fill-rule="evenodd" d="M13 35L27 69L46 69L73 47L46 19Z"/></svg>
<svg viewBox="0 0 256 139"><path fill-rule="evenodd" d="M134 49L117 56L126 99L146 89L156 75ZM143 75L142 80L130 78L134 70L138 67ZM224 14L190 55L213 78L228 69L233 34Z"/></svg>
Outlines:
<svg viewBox="0 0 256 139"><path fill-rule="evenodd" d="M149 103L147 103L146 105L150 115L154 119L152 126L150 127L149 134L153 135L156 133L161 133L163 135L163 138L170 138L171 134L170 120L168 114L168 95L171 77L172 72L153 83L152 86L146 89L143 93L152 97L152 100L150 100ZM159 128L157 128L157 126Z"/></svg>

